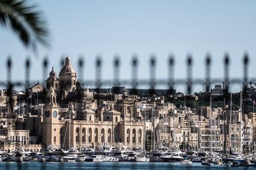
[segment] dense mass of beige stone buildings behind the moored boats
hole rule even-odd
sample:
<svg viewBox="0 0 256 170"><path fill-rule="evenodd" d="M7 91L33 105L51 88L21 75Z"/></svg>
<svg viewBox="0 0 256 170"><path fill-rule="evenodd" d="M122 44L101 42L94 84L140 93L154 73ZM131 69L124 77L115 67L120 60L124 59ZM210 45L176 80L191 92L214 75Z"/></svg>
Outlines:
<svg viewBox="0 0 256 170"><path fill-rule="evenodd" d="M67 57L59 74L52 67L45 84L36 83L28 94L13 90L10 98L7 90L0 90L0 148L108 145L226 153L255 150L256 113L175 106L166 102L170 94L165 90L154 96L140 90L140 96L125 87L86 89L77 80ZM212 94L220 95L220 88L215 86Z"/></svg>

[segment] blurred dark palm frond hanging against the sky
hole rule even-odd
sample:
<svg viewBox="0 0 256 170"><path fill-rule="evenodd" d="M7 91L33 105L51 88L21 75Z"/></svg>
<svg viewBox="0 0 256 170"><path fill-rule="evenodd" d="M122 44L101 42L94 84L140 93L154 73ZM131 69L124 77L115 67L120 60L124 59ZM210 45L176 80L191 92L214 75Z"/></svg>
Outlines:
<svg viewBox="0 0 256 170"><path fill-rule="evenodd" d="M49 47L47 23L28 0L1 0L0 24L12 29L26 47L36 52L37 43Z"/></svg>

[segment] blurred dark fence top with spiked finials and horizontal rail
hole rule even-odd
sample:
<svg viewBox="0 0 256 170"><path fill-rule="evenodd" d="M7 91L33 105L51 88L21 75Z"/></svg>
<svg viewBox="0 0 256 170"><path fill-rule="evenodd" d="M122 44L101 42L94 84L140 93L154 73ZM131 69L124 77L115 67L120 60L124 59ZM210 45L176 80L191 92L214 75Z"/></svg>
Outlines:
<svg viewBox="0 0 256 170"><path fill-rule="evenodd" d="M26 59L25 62L25 69L26 69L26 75L24 81L12 81L11 79L11 72L12 72L12 60L11 57L8 57L6 62L6 69L7 69L7 80L6 81L0 81L0 86L8 89L8 96L12 96L13 89L16 87L22 87L26 90L28 93L28 88L31 85L34 85L35 82L30 80L30 72L31 72L31 61L30 59ZM114 69L114 76L113 76L113 85L119 86L126 83L132 88L132 93L136 94L136 89L138 87L142 86L148 86L150 89L150 94L154 94L154 89L156 89L157 85L164 85L166 89L173 89L173 87L177 85L182 85L186 87L187 94L191 94L193 86L195 85L205 85L205 92L210 92L211 85L214 83L223 83L224 85L224 91L225 94L230 89L230 85L232 84L240 84L243 86L243 90L246 90L248 87L248 82L250 81L256 81L255 78L248 78L248 63L249 63L249 57L248 54L245 53L243 56L243 79L241 78L230 78L229 72L230 72L230 57L228 54L225 55L223 60L223 67L224 67L224 74L221 78L211 78L211 55L206 55L205 57L205 78L193 78L193 57L191 55L188 55L186 59L186 66L187 66L187 75L186 78L174 78L174 67L175 67L175 57L170 56L168 59L168 77L164 79L157 78L156 75L156 56L152 55L150 57L150 78L149 79L138 79L138 57L134 56L132 57L131 67L132 67L132 73L131 73L131 80L121 80L120 79L120 57L116 56L113 61L113 69ZM64 65L64 59L61 59L61 64ZM43 78L42 78L42 85L45 85L44 80L47 78L47 67L49 65L49 61L47 57L44 58L42 67L43 67ZM102 79L102 59L101 57L96 57L95 60L95 80L86 80L84 81L83 78L83 71L84 71L84 57L79 57L78 62L78 73L79 73L79 81L82 85L85 84L93 84L95 85L96 89L102 88L104 85L109 85L109 81ZM12 98L12 97L10 97Z"/></svg>

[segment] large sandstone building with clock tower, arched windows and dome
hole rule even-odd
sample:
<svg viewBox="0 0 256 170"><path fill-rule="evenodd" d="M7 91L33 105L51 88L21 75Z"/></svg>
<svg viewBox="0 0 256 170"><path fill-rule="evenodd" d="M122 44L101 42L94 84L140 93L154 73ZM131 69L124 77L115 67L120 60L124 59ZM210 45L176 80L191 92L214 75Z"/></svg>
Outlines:
<svg viewBox="0 0 256 170"><path fill-rule="evenodd" d="M81 103L61 101L76 92L76 71L65 59L59 78L52 68L47 82L46 102L43 109L42 144L63 148L83 146L122 145L141 148L143 144L143 122L133 119L133 102L124 94L116 106L92 108L81 99ZM60 95L61 97L58 97ZM83 96L80 96L83 97ZM86 97L86 96L84 96Z"/></svg>

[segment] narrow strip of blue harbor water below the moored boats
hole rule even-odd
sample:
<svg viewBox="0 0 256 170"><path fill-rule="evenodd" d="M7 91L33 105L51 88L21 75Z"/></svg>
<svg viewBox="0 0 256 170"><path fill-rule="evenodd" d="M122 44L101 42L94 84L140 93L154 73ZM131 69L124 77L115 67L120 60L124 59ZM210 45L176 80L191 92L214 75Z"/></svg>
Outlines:
<svg viewBox="0 0 256 170"><path fill-rule="evenodd" d="M1 162L0 169L13 169L13 170L37 170L37 169L255 169L255 167L227 167L227 166L202 166L201 163L193 163L191 165L181 165L179 162Z"/></svg>

